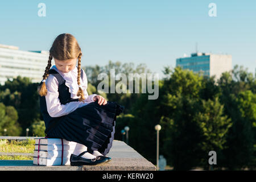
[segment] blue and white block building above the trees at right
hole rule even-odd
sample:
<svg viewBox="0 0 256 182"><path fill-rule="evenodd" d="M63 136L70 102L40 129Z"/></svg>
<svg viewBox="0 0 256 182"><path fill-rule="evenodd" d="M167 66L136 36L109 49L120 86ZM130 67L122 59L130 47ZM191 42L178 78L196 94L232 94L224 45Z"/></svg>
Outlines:
<svg viewBox="0 0 256 182"><path fill-rule="evenodd" d="M192 53L191 57L176 59L176 67L190 69L195 73L200 71L204 75L213 76L215 80L221 77L221 73L232 70L232 55L214 55L212 53Z"/></svg>

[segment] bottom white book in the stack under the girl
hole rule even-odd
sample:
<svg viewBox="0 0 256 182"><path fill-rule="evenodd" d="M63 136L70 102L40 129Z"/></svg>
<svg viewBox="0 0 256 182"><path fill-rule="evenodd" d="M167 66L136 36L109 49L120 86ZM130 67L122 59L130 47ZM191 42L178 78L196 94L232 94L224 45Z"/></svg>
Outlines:
<svg viewBox="0 0 256 182"><path fill-rule="evenodd" d="M40 165L40 166L60 166L61 165L61 158L33 158L33 164ZM63 165L70 165L69 158L63 158Z"/></svg>

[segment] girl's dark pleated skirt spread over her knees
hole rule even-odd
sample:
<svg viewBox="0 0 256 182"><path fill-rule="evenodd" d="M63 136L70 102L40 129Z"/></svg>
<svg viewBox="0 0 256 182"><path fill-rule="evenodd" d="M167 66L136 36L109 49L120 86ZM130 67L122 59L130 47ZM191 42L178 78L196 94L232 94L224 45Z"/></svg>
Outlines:
<svg viewBox="0 0 256 182"><path fill-rule="evenodd" d="M90 102L61 117L47 137L81 143L88 148L88 152L97 150L106 155L112 147L116 117L123 109L116 102L108 101L106 105Z"/></svg>

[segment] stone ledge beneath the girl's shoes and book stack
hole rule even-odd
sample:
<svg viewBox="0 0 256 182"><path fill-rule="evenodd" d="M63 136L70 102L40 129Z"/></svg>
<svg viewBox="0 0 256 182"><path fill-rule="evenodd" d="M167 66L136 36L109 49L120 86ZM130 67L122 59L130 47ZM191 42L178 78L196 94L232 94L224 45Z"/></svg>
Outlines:
<svg viewBox="0 0 256 182"><path fill-rule="evenodd" d="M96 166L36 166L32 160L0 160L0 171L155 171L154 164L119 140L113 141L112 160Z"/></svg>

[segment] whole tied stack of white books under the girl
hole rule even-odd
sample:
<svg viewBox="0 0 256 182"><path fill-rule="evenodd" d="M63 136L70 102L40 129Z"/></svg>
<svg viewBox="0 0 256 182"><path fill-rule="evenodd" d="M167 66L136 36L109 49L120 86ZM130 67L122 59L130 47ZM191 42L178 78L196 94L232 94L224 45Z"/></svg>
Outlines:
<svg viewBox="0 0 256 182"><path fill-rule="evenodd" d="M80 154L86 151L86 147L60 138L36 138L33 164L41 166L70 165L69 159L74 151Z"/></svg>

